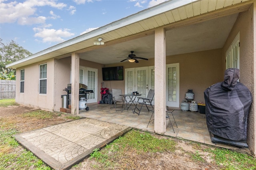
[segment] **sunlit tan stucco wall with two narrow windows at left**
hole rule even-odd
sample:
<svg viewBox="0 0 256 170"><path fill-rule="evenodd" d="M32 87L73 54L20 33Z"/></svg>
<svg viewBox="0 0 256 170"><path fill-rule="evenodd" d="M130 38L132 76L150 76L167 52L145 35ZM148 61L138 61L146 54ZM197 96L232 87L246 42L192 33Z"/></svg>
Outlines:
<svg viewBox="0 0 256 170"><path fill-rule="evenodd" d="M39 65L47 63L47 94L39 94ZM24 93L20 93L20 69L25 69ZM22 105L52 111L54 109L54 60L48 59L16 69L16 102Z"/></svg>

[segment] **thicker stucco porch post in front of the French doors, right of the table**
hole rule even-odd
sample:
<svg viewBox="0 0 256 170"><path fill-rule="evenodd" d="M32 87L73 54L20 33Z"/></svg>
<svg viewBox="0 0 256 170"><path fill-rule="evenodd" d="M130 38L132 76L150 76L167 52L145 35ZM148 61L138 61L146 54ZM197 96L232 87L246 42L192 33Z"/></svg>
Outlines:
<svg viewBox="0 0 256 170"><path fill-rule="evenodd" d="M154 130L166 132L166 42L164 28L155 30L155 117Z"/></svg>

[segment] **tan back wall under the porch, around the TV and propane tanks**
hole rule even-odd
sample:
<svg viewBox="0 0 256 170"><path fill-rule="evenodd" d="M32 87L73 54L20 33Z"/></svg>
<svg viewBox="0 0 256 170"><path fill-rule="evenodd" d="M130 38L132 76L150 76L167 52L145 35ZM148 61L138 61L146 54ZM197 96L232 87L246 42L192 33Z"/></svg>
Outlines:
<svg viewBox="0 0 256 170"><path fill-rule="evenodd" d="M214 83L223 81L222 49L199 51L166 57L166 64L180 63L180 103L185 98L188 89L193 89L197 102L204 102L204 90ZM123 66L126 68L154 65L154 59L140 60L139 63L117 63L106 67ZM124 91L124 81L106 81L106 87L121 88ZM157 87L155 87L157 88Z"/></svg>

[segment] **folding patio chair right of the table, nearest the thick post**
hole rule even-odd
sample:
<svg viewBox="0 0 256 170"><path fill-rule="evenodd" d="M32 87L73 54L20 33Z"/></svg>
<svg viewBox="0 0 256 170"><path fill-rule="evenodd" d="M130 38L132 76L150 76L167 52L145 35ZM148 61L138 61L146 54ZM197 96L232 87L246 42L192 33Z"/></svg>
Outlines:
<svg viewBox="0 0 256 170"><path fill-rule="evenodd" d="M154 95L155 95L155 91L150 89L149 92L148 92L148 96L146 98L138 97L138 101L136 102L136 106L135 106L134 109L132 109L133 114L135 112L138 115L140 115L140 111L141 111L143 105L145 105L147 107L147 109L148 109L148 105L151 106L152 109L154 109L153 106L152 106L152 101L153 101ZM138 104L141 104L140 108L138 107ZM148 109L148 111L150 111L150 109Z"/></svg>

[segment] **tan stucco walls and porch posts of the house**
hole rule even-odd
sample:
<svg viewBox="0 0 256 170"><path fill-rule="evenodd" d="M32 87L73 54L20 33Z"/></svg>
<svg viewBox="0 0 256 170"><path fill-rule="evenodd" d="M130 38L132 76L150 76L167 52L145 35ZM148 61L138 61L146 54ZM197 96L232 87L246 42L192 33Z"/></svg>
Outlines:
<svg viewBox="0 0 256 170"><path fill-rule="evenodd" d="M179 63L180 68L180 96L179 101L185 97L185 93L188 89L193 89L195 94L194 100L197 102L204 102L204 90L214 83L223 81L224 71L226 69L226 51L234 38L240 34L240 82L246 85L252 93L253 103L250 109L248 117L248 145L252 153L256 152L256 120L255 120L255 94L254 91L256 83L256 3L254 3L249 10L240 12L238 18L234 23L226 42L223 47L218 49L210 49L205 51L197 51L192 53L183 53L179 55L165 56L165 49L168 44L165 44L165 32L164 28L154 29L155 32L155 53L154 58L148 61L140 60L139 63L113 63L113 64L100 64L84 59L79 59L79 53L70 51L70 55L62 57L61 59L52 58L44 61L36 62L24 67L17 68L17 81L16 81L16 102L37 107L50 111L59 111L62 106L61 95L65 95L66 92L63 89L68 83L72 82L73 85L78 87L78 70L79 65L84 67L90 67L98 69L98 93L97 101L100 101L101 94L100 88L102 81L102 67L123 66L124 69L134 67L146 67L155 66L156 77L155 81L162 83L155 87L155 91L158 93L155 96L156 105L158 111L155 115L158 115L155 123L155 131L162 134L165 132L165 120L164 120L164 106L165 106L165 75L161 72L165 72L165 65L171 63ZM200 21L202 22L202 21ZM178 29L178 28L176 28ZM118 40L116 40L118 41ZM122 41L122 40L120 40ZM208 40L211 41L211 40ZM175 48L172 46L172 48ZM93 50L93 49L92 49ZM72 54L71 54L72 53ZM100 57L100 56L95 56ZM47 95L39 94L39 65L47 63ZM70 71L72 65L72 71ZM158 68L160 68L158 72ZM25 89L24 93L20 91L20 69L25 69ZM70 75L72 73L72 76ZM125 73L125 72L124 72ZM74 76L73 76L74 75ZM125 75L124 75L125 76ZM72 79L70 79L72 77ZM125 82L123 81L104 81L104 87L111 89L119 89L125 91ZM73 98L78 98L78 95L72 94ZM163 99L163 100L161 100ZM72 113L78 113L78 101L73 102L74 106ZM178 108L176 108L178 109Z"/></svg>

